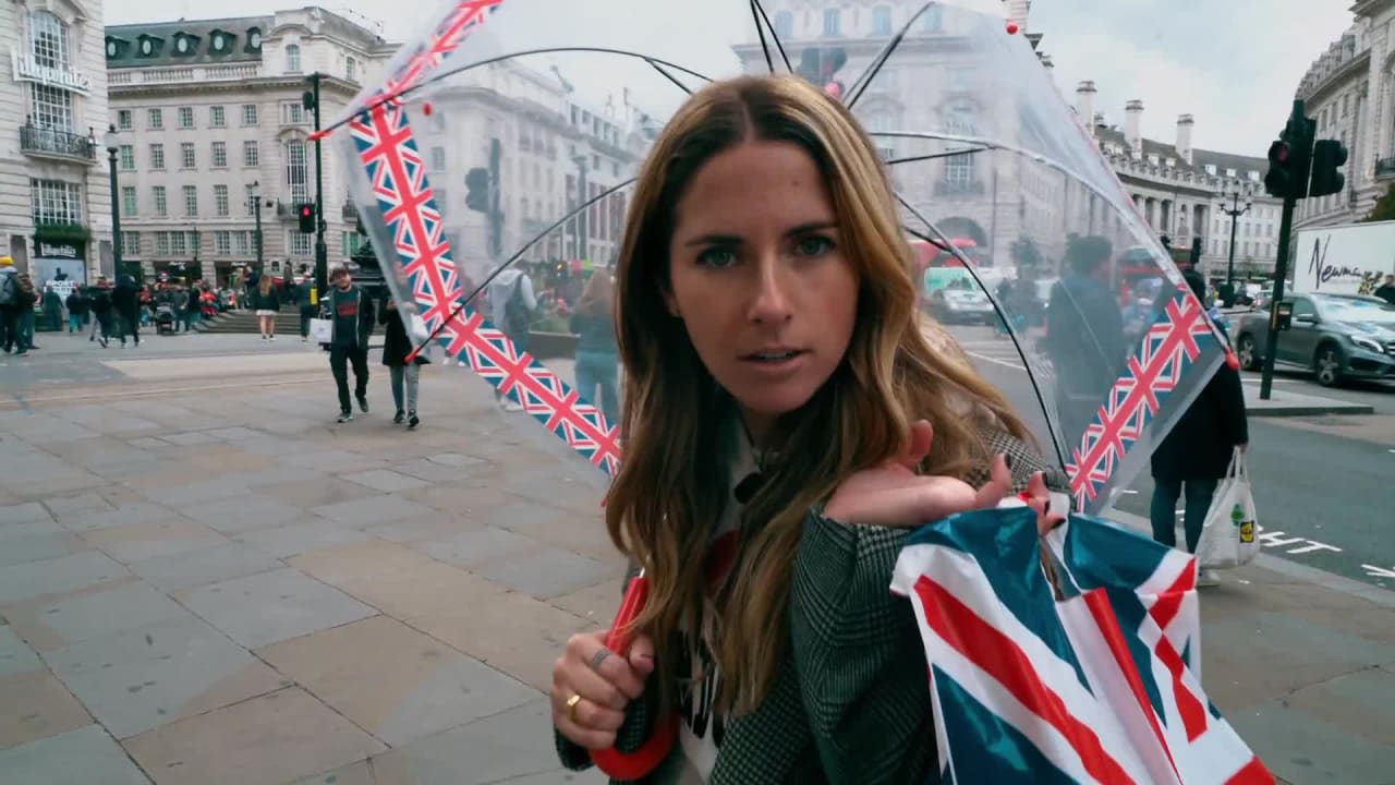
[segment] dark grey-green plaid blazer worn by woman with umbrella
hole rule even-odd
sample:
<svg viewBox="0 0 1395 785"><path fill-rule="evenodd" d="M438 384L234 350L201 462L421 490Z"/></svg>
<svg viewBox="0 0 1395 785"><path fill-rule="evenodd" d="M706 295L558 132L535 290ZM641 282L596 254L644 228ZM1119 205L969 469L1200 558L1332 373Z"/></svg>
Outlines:
<svg viewBox="0 0 1395 785"><path fill-rule="evenodd" d="M1009 457L1018 490L1039 471L1066 487L1006 433L985 434L985 444ZM986 467L968 479L986 480ZM790 591L790 658L755 712L727 719L711 785L939 782L925 648L910 601L889 588L908 534L809 514ZM622 751L649 736L654 697L629 705ZM591 765L585 749L554 736L562 765ZM682 756L678 744L672 756ZM647 782L661 785L663 774Z"/></svg>

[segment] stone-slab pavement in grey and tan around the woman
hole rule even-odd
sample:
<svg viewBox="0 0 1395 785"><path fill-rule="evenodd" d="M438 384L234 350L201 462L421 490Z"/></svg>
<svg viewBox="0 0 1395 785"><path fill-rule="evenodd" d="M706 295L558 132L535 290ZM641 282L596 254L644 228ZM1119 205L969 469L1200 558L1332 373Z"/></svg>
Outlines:
<svg viewBox="0 0 1395 785"><path fill-rule="evenodd" d="M544 690L618 605L603 478L458 366L406 433L371 370L343 426L299 376L0 404L0 784L600 781ZM1226 575L1205 680L1289 782L1395 782L1395 606L1339 588Z"/></svg>

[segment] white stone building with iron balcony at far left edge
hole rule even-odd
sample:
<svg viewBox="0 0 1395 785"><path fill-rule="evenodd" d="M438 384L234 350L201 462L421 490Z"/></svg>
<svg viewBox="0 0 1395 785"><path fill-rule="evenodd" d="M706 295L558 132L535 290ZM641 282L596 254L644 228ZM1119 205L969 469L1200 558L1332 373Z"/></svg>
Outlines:
<svg viewBox="0 0 1395 785"><path fill-rule="evenodd" d="M0 254L46 281L112 272L99 0L0 3ZM64 267L66 265L66 267Z"/></svg>

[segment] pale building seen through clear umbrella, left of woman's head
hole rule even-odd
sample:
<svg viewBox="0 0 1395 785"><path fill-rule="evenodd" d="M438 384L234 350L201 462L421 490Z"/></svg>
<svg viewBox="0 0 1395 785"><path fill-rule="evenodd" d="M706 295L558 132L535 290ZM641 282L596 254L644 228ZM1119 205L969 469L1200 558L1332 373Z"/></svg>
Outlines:
<svg viewBox="0 0 1395 785"><path fill-rule="evenodd" d="M589 106L575 96L557 68L544 71L505 60L451 77L430 98L439 110L413 117L413 130L445 223L455 260L476 279L497 261L488 253L483 212L466 207L466 173L490 166L499 140L502 253L508 258L540 235L527 261L615 258L628 189L597 201L585 214L548 229L612 186L635 176L647 149L639 133L643 113L625 99ZM585 180L585 194L580 184ZM585 198L583 198L585 196ZM580 200L580 201L579 201Z"/></svg>

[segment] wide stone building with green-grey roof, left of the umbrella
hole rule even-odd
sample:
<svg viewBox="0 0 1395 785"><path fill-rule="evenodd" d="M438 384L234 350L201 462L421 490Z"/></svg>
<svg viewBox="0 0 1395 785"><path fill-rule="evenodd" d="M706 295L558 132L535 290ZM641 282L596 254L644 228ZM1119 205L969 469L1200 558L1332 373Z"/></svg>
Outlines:
<svg viewBox="0 0 1395 785"><path fill-rule="evenodd" d="M106 28L112 123L124 137L119 194L124 257L146 275L223 281L314 264L294 205L315 198L307 77L321 74L325 123L378 78L396 50L364 24L318 7L266 17ZM329 263L357 247L357 212L339 151L324 148Z"/></svg>

